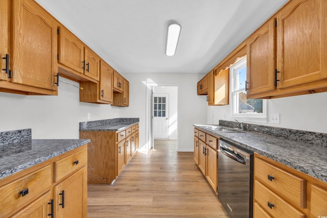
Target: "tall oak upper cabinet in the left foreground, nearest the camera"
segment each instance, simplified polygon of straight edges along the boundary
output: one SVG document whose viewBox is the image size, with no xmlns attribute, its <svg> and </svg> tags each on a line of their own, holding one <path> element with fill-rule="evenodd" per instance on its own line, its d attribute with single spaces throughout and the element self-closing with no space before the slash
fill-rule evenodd
<svg viewBox="0 0 327 218">
<path fill-rule="evenodd" d="M 5 0 L 0 10 L 0 30 L 4 34 L 0 49 L 2 57 L 7 58 L 2 59 L 1 66 L 8 69 L 1 71 L 0 89 L 56 95 L 56 20 L 32 0 Z"/>
</svg>

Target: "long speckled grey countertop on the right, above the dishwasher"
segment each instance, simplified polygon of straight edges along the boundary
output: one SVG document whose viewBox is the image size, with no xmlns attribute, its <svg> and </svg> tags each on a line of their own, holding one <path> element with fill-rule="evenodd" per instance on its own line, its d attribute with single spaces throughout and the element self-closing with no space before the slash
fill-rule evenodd
<svg viewBox="0 0 327 218">
<path fill-rule="evenodd" d="M 308 143 L 300 140 L 300 138 L 290 140 L 285 137 L 253 131 L 219 132 L 209 128 L 208 125 L 195 124 L 194 126 L 203 132 L 231 141 L 250 151 L 327 182 L 327 156 L 325 155 L 327 154 L 327 147 L 324 144 L 327 134 L 318 133 L 318 138 L 314 138 L 312 143 Z M 260 129 L 260 127 L 258 128 Z M 285 129 L 285 131 L 289 132 L 289 129 Z M 279 133 L 281 134 L 281 132 Z"/>
</svg>

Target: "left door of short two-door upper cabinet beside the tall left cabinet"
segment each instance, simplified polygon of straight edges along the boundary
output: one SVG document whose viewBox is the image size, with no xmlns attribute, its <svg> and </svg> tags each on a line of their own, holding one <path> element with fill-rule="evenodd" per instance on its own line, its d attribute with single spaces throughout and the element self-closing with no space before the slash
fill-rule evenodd
<svg viewBox="0 0 327 218">
<path fill-rule="evenodd" d="M 63 27 L 59 27 L 59 63 L 83 74 L 84 44 Z"/>
</svg>

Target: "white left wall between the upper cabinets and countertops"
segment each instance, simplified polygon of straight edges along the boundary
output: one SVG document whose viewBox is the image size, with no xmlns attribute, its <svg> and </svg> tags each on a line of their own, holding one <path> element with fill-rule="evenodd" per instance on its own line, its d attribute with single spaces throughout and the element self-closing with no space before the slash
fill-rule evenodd
<svg viewBox="0 0 327 218">
<path fill-rule="evenodd" d="M 79 123 L 120 117 L 110 105 L 79 102 L 79 83 L 60 77 L 58 96 L 0 92 L 0 132 L 32 128 L 33 139 L 79 138 Z"/>
</svg>

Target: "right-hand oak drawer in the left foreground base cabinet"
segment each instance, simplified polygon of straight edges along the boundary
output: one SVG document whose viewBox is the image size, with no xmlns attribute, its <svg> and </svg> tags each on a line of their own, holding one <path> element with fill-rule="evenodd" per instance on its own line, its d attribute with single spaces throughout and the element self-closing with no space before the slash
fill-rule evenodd
<svg viewBox="0 0 327 218">
<path fill-rule="evenodd" d="M 87 163 L 87 149 L 83 149 L 77 153 L 55 162 L 55 182 L 61 180 L 68 174 L 73 173 L 81 166 Z"/>
</svg>

